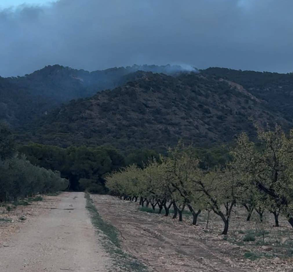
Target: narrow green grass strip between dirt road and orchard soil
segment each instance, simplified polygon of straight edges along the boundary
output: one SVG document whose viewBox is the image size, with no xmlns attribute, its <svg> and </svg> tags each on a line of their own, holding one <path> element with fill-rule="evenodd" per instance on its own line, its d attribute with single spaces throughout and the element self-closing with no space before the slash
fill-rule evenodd
<svg viewBox="0 0 293 272">
<path fill-rule="evenodd" d="M 102 244 L 114 260 L 114 265 L 123 269 L 123 271 L 137 271 L 146 272 L 147 267 L 139 262 L 135 257 L 123 252 L 120 241 L 118 230 L 111 224 L 105 222 L 98 213 L 98 210 L 93 203 L 93 199 L 89 193 L 85 193 L 86 198 L 86 209 L 88 209 L 91 221 L 96 231 L 103 233 Z"/>
</svg>

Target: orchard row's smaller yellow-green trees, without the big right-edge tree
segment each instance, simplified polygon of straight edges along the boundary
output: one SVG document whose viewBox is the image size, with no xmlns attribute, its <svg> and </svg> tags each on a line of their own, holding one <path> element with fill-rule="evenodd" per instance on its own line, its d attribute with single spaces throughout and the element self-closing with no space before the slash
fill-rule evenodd
<svg viewBox="0 0 293 272">
<path fill-rule="evenodd" d="M 187 206 L 193 220 L 201 209 L 213 210 L 224 221 L 223 234 L 227 234 L 229 217 L 240 195 L 239 185 L 239 174 L 233 168 L 203 170 L 194 149 L 182 142 L 169 149 L 167 157 L 161 156 L 160 163 L 153 159 L 144 169 L 131 165 L 106 176 L 110 193 L 147 199 L 153 208 L 154 204 L 162 209 L 167 203 L 176 203 L 182 214 Z"/>
</svg>

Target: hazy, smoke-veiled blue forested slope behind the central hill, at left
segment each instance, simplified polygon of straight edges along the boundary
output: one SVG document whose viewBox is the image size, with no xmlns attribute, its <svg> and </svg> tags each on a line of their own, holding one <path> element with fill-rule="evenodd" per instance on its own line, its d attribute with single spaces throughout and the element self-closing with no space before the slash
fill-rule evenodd
<svg viewBox="0 0 293 272">
<path fill-rule="evenodd" d="M 71 99 L 89 97 L 124 84 L 128 81 L 127 75 L 138 70 L 174 74 L 183 68 L 134 65 L 88 72 L 53 65 L 23 77 L 0 76 L 0 120 L 22 127 Z"/>
</svg>

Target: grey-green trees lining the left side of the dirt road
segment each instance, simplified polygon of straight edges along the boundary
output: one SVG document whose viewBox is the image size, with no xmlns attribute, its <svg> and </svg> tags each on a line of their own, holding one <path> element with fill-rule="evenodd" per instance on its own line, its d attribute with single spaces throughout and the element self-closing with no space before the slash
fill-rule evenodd
<svg viewBox="0 0 293 272">
<path fill-rule="evenodd" d="M 15 152 L 11 130 L 0 124 L 0 202 L 57 192 L 67 186 L 68 180 L 59 172 L 35 166 Z"/>
</svg>

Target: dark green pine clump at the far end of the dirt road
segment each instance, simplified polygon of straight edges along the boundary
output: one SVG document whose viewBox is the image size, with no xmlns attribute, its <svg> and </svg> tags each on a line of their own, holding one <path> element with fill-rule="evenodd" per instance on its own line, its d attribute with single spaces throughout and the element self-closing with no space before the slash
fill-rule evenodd
<svg viewBox="0 0 293 272">
<path fill-rule="evenodd" d="M 125 165 L 124 156 L 109 147 L 68 147 L 28 144 L 18 148 L 31 163 L 61 172 L 70 190 L 105 193 L 104 175 Z"/>
</svg>

